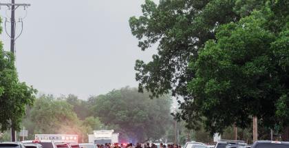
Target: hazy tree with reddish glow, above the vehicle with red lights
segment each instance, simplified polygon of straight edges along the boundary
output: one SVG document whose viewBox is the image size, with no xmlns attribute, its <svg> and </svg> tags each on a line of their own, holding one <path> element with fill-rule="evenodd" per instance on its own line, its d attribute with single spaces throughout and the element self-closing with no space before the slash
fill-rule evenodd
<svg viewBox="0 0 289 148">
<path fill-rule="evenodd" d="M 73 106 L 53 96 L 37 98 L 30 111 L 34 133 L 38 134 L 79 134 L 81 123 L 73 112 Z"/>
</svg>

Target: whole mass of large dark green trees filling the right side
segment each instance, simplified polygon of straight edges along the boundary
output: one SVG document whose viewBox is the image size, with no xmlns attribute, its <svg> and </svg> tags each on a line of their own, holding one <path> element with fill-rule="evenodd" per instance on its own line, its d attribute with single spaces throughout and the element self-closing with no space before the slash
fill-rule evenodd
<svg viewBox="0 0 289 148">
<path fill-rule="evenodd" d="M 288 123 L 288 1 L 147 0 L 129 23 L 142 50 L 158 45 L 152 61 L 136 61 L 140 92 L 182 96 L 187 127 L 203 117 L 211 133 L 248 127 L 252 116 Z"/>
</svg>

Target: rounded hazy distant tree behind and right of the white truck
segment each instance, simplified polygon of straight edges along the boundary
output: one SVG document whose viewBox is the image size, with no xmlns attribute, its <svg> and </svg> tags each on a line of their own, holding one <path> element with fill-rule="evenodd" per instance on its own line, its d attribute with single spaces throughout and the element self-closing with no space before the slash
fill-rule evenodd
<svg viewBox="0 0 289 148">
<path fill-rule="evenodd" d="M 162 96 L 151 100 L 149 93 L 125 87 L 95 97 L 91 109 L 105 125 L 116 125 L 116 132 L 134 142 L 162 138 L 171 120 L 171 99 Z"/>
</svg>

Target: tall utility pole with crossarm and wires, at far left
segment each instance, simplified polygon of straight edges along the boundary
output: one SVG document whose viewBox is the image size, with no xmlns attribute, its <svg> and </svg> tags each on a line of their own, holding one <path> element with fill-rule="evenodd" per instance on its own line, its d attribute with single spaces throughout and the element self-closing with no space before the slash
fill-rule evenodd
<svg viewBox="0 0 289 148">
<path fill-rule="evenodd" d="M 30 6 L 30 4 L 28 4 L 28 3 L 15 3 L 15 0 L 11 0 L 11 3 L 0 3 L 0 7 L 1 6 L 7 6 L 9 8 L 9 10 L 11 10 L 11 18 L 10 18 L 11 32 L 10 32 L 10 35 L 7 32 L 6 33 L 8 34 L 8 36 L 10 36 L 10 42 L 11 42 L 10 43 L 10 52 L 14 55 L 14 53 L 15 53 L 15 47 L 14 47 L 14 45 L 15 45 L 15 27 L 16 27 L 15 10 L 17 10 L 17 8 L 19 8 L 20 6 L 23 6 L 24 10 L 25 10 L 25 8 Z M 19 34 L 19 36 L 20 36 L 20 34 Z M 17 38 L 19 36 L 17 36 Z M 16 141 L 16 131 L 13 127 L 12 121 L 11 121 L 11 141 L 12 142 Z"/>
</svg>

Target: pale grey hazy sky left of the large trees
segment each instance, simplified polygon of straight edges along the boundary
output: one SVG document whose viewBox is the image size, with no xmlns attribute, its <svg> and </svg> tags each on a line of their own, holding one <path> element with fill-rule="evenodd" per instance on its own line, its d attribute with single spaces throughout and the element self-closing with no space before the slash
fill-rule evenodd
<svg viewBox="0 0 289 148">
<path fill-rule="evenodd" d="M 148 61 L 156 52 L 140 51 L 129 28 L 129 17 L 141 14 L 144 0 L 16 2 L 32 5 L 16 42 L 17 71 L 21 81 L 41 93 L 76 94 L 86 99 L 126 85 L 136 87 L 136 59 Z M 1 17 L 6 17 L 6 10 L 1 7 Z M 23 16 L 25 11 L 19 8 L 17 18 Z M 0 39 L 5 50 L 10 50 L 4 30 Z"/>
</svg>

